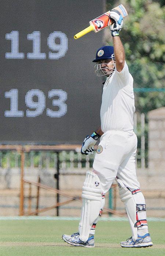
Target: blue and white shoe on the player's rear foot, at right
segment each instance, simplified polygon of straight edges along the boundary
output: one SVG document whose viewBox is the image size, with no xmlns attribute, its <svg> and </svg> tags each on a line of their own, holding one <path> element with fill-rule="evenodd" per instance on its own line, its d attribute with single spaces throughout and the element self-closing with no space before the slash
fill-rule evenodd
<svg viewBox="0 0 165 256">
<path fill-rule="evenodd" d="M 132 237 L 128 238 L 125 242 L 121 242 L 121 247 L 149 247 L 153 246 L 150 234 L 143 236 L 138 235 L 137 240 L 133 241 Z"/>
</svg>

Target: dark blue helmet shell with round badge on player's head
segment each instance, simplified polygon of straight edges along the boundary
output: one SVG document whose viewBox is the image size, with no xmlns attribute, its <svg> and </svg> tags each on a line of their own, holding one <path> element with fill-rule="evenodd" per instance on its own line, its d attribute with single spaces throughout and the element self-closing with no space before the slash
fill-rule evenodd
<svg viewBox="0 0 165 256">
<path fill-rule="evenodd" d="M 112 54 L 114 54 L 113 46 L 106 45 L 100 47 L 96 52 L 96 58 L 93 60 L 93 62 L 98 62 L 101 59 L 112 59 Z"/>
</svg>

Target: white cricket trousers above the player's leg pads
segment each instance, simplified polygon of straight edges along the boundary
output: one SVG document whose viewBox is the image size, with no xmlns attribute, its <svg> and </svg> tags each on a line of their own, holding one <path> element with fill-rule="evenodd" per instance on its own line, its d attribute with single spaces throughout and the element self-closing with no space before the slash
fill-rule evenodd
<svg viewBox="0 0 165 256">
<path fill-rule="evenodd" d="M 106 193 L 116 176 L 129 189 L 139 189 L 135 155 L 137 136 L 133 131 L 106 131 L 100 138 L 93 168 Z"/>
</svg>

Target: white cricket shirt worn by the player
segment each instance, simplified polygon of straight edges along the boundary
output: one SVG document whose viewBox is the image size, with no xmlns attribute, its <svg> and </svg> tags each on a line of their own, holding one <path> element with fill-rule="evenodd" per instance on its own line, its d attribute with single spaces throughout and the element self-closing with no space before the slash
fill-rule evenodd
<svg viewBox="0 0 165 256">
<path fill-rule="evenodd" d="M 100 109 L 102 131 L 132 131 L 134 112 L 133 77 L 125 62 L 122 71 L 115 69 L 104 84 Z"/>
</svg>

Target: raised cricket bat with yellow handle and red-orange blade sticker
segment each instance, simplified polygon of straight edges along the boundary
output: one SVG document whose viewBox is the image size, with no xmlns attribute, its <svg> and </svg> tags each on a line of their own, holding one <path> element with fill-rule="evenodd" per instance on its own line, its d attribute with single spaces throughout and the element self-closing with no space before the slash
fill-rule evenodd
<svg viewBox="0 0 165 256">
<path fill-rule="evenodd" d="M 120 4 L 119 6 L 113 8 L 115 10 L 118 10 L 122 17 L 126 17 L 128 15 L 125 7 Z M 100 30 L 106 28 L 107 26 L 111 25 L 113 21 L 109 18 L 110 17 L 110 11 L 107 11 L 106 13 L 100 15 L 99 17 L 92 19 L 92 21 L 89 21 L 90 26 L 79 33 L 77 33 L 74 36 L 74 39 L 78 39 L 81 36 L 84 36 L 85 34 L 91 32 L 92 30 L 94 32 L 99 32 Z"/>
</svg>

